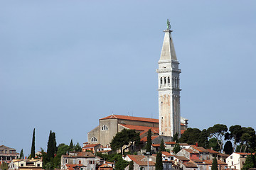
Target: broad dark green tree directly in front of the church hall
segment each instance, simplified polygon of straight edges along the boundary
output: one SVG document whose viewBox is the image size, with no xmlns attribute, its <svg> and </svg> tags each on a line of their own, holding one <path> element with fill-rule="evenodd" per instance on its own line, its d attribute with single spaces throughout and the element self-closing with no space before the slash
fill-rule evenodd
<svg viewBox="0 0 256 170">
<path fill-rule="evenodd" d="M 112 150 L 121 149 L 121 153 L 123 153 L 122 147 L 124 147 L 124 145 L 127 146 L 124 149 L 127 149 L 132 145 L 138 145 L 139 140 L 140 138 L 138 132 L 135 132 L 135 130 L 123 129 L 121 132 L 117 132 L 117 134 L 110 142 L 110 145 L 112 147 Z"/>
</svg>

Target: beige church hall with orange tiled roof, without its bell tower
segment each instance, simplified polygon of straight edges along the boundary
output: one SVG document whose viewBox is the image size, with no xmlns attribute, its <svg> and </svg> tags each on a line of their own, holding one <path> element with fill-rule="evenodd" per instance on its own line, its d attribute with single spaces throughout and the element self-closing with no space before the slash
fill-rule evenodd
<svg viewBox="0 0 256 170">
<path fill-rule="evenodd" d="M 181 129 L 186 130 L 188 120 L 184 118 L 181 118 L 181 120 Z M 159 120 L 128 115 L 109 115 L 105 118 L 101 118 L 99 120 L 99 125 L 87 133 L 87 142 L 110 146 L 110 142 L 114 135 L 116 135 L 117 132 L 121 132 L 123 129 L 132 129 L 141 133 L 151 129 L 155 135 L 159 135 Z"/>
</svg>

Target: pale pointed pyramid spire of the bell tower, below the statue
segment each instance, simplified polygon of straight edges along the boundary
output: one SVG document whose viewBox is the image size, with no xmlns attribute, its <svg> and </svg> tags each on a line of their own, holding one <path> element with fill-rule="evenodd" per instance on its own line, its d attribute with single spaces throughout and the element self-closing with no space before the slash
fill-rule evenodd
<svg viewBox="0 0 256 170">
<path fill-rule="evenodd" d="M 161 50 L 160 60 L 177 60 L 176 52 L 174 50 L 174 42 L 171 38 L 171 30 L 164 30 L 164 43 Z"/>
</svg>

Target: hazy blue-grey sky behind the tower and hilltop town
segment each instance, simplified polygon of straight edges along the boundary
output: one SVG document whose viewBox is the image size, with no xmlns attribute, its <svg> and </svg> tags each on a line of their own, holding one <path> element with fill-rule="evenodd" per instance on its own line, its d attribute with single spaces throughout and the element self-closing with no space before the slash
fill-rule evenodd
<svg viewBox="0 0 256 170">
<path fill-rule="evenodd" d="M 107 115 L 158 118 L 171 22 L 188 127 L 256 129 L 256 1 L 0 1 L 0 145 L 87 142 Z"/>
</svg>

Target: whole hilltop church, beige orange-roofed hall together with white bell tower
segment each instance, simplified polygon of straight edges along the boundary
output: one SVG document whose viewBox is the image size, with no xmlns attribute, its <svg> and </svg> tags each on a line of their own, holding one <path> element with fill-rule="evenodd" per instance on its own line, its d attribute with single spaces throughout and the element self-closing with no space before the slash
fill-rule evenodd
<svg viewBox="0 0 256 170">
<path fill-rule="evenodd" d="M 151 129 L 153 135 L 169 137 L 175 134 L 178 137 L 188 128 L 188 120 L 181 117 L 180 84 L 178 60 L 174 50 L 174 42 L 171 38 L 171 26 L 167 21 L 167 29 L 164 30 L 164 43 L 161 57 L 158 62 L 158 91 L 159 91 L 159 119 L 139 118 L 128 115 L 109 115 L 99 120 L 99 125 L 87 133 L 87 142 L 100 143 L 102 146 L 110 146 L 110 142 L 117 132 L 123 129 L 132 129 L 143 134 Z"/>
</svg>

